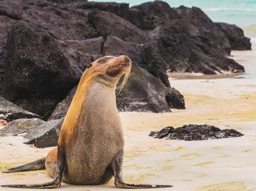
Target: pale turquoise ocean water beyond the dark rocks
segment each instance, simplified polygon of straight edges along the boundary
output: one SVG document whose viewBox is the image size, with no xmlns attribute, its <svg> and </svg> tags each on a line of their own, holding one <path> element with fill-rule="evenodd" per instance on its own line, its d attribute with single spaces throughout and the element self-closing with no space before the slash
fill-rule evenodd
<svg viewBox="0 0 256 191">
<path fill-rule="evenodd" d="M 147 0 L 100 0 L 139 5 Z M 256 0 L 167 0 L 171 7 L 200 7 L 214 22 L 228 22 L 246 27 L 256 24 Z"/>
</svg>

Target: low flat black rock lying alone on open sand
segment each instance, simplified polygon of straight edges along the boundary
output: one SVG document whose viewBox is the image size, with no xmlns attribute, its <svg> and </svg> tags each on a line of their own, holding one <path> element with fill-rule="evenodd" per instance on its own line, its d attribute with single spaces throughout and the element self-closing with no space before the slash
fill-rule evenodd
<svg viewBox="0 0 256 191">
<path fill-rule="evenodd" d="M 210 126 L 207 124 L 188 124 L 178 128 L 167 126 L 162 128 L 160 131 L 152 131 L 150 136 L 158 139 L 202 141 L 208 139 L 241 137 L 243 134 L 234 129 L 221 130 L 216 126 Z"/>
</svg>

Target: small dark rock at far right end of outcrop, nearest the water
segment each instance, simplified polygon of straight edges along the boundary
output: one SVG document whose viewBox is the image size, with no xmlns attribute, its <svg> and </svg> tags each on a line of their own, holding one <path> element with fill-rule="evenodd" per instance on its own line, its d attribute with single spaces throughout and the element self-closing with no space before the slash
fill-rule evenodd
<svg viewBox="0 0 256 191">
<path fill-rule="evenodd" d="M 227 39 L 232 50 L 251 50 L 250 39 L 244 37 L 244 31 L 237 27 L 235 24 L 227 24 L 223 22 L 216 22 L 220 27 Z"/>
</svg>

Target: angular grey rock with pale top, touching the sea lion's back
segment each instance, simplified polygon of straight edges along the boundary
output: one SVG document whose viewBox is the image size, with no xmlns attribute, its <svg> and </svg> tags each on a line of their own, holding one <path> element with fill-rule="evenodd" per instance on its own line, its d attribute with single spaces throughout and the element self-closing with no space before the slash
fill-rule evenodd
<svg viewBox="0 0 256 191">
<path fill-rule="evenodd" d="M 40 126 L 34 126 L 23 136 L 29 141 L 27 144 L 33 144 L 35 147 L 53 147 L 57 145 L 59 131 L 63 123 L 64 118 L 59 120 L 49 120 L 44 122 Z"/>
</svg>

